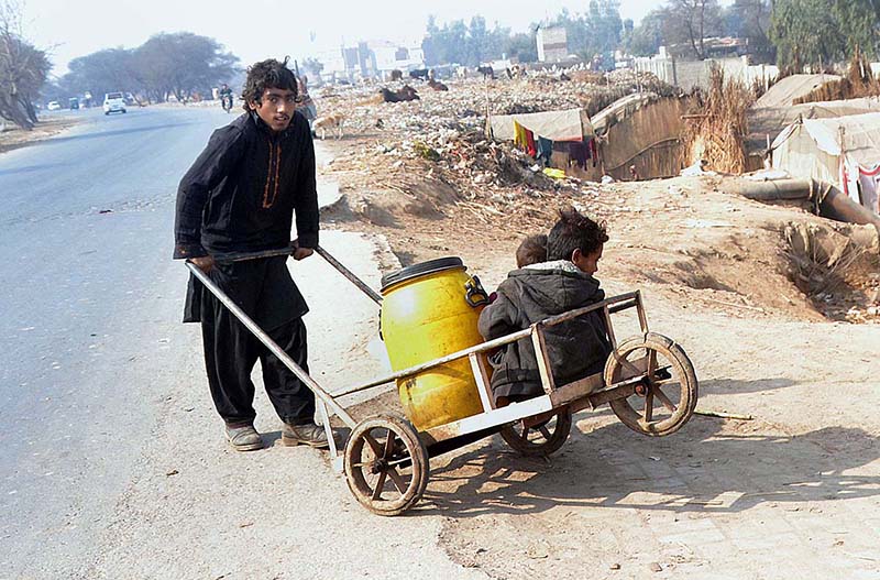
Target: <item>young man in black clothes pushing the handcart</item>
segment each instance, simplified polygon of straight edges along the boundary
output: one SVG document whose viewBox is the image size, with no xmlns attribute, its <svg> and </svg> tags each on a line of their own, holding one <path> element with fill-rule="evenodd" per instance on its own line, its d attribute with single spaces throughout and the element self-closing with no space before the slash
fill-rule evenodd
<svg viewBox="0 0 880 580">
<path fill-rule="evenodd" d="M 177 191 L 175 259 L 210 278 L 308 372 L 308 311 L 286 256 L 220 263 L 215 255 L 286 248 L 296 218 L 304 260 L 318 245 L 315 145 L 306 119 L 294 114 L 297 81 L 287 59 L 248 69 L 244 113 L 213 132 Z M 251 371 L 260 360 L 266 393 L 283 422 L 282 441 L 327 447 L 315 424 L 315 395 L 195 276 L 187 288 L 185 322 L 201 322 L 208 385 L 229 445 L 261 449 L 254 429 Z"/>
</svg>

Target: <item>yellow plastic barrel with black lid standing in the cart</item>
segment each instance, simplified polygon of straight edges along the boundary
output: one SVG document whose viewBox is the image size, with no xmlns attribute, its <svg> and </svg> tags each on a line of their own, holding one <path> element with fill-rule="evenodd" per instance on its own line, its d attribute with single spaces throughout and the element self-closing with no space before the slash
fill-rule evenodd
<svg viewBox="0 0 880 580">
<path fill-rule="evenodd" d="M 483 337 L 476 321 L 488 298 L 459 258 L 415 264 L 382 277 L 382 336 L 399 371 L 468 347 Z M 397 381 L 404 411 L 419 430 L 483 411 L 468 358 Z"/>
</svg>

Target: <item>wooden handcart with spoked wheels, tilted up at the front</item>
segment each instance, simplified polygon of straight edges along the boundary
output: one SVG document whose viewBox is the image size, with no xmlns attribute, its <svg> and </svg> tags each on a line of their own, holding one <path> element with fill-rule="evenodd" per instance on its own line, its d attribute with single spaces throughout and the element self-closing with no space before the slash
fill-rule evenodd
<svg viewBox="0 0 880 580">
<path fill-rule="evenodd" d="M 220 263 L 290 255 L 289 248 L 255 253 L 216 256 Z M 318 248 L 324 258 L 376 304 L 383 298 L 344 265 Z M 211 278 L 195 264 L 187 262 L 190 272 L 227 308 L 265 344 L 316 395 L 319 417 L 327 430 L 333 468 L 343 471 L 349 489 L 359 503 L 380 515 L 398 515 L 421 499 L 428 484 L 429 462 L 447 451 L 461 448 L 481 438 L 501 434 L 516 451 L 527 456 L 548 456 L 557 451 L 571 431 L 572 414 L 595 409 L 607 403 L 614 414 L 630 429 L 661 437 L 679 430 L 693 415 L 697 400 L 697 380 L 684 350 L 669 338 L 650 332 L 639 291 L 620 294 L 585 308 L 570 310 L 541 320 L 531 327 L 495 340 L 457 350 L 432 360 L 414 364 L 366 384 L 330 394 L 298 366 Z M 462 269 L 463 270 L 463 269 Z M 468 284 L 468 300 L 475 286 L 474 276 Z M 482 287 L 480 287 L 482 292 Z M 635 308 L 640 332 L 619 341 L 612 318 Z M 603 317 L 613 351 L 604 372 L 568 384 L 556 384 L 548 358 L 544 336 L 548 328 L 580 316 L 598 311 Z M 386 337 L 387 338 L 387 337 Z M 514 341 L 527 339 L 534 344 L 543 394 L 527 401 L 496 407 L 490 389 L 486 354 Z M 479 409 L 470 416 L 438 425 L 417 428 L 408 416 L 380 413 L 355 419 L 339 403 L 342 397 L 363 393 L 389 383 L 413 381 L 420 373 L 444 369 L 444 365 L 466 361 L 473 373 L 479 395 Z M 475 396 L 476 396 L 475 395 Z M 351 434 L 342 449 L 337 447 L 330 426 L 329 411 L 334 413 Z M 410 414 L 411 415 L 411 414 Z"/>
</svg>

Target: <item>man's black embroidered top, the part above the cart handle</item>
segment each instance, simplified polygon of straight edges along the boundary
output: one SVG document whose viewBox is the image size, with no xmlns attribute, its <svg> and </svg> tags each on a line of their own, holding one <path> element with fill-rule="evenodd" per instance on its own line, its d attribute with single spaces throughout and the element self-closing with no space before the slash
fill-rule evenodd
<svg viewBox="0 0 880 580">
<path fill-rule="evenodd" d="M 315 145 L 294 114 L 273 134 L 254 113 L 218 129 L 180 180 L 174 258 L 283 248 L 293 216 L 299 245 L 318 245 Z"/>
</svg>

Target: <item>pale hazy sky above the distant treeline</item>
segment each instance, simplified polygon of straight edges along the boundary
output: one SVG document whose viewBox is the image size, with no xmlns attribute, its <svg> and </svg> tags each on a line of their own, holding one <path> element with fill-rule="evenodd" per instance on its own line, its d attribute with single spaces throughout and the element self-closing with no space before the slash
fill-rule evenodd
<svg viewBox="0 0 880 580">
<path fill-rule="evenodd" d="M 587 0 L 24 0 L 24 35 L 48 50 L 53 73 L 101 48 L 133 48 L 158 32 L 194 32 L 219 41 L 242 65 L 267 57 L 333 51 L 344 41 L 419 43 L 429 14 L 440 23 L 481 14 L 515 32 L 562 8 L 583 12 Z M 622 18 L 639 22 L 661 2 L 620 0 Z"/>
</svg>

